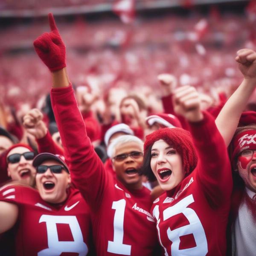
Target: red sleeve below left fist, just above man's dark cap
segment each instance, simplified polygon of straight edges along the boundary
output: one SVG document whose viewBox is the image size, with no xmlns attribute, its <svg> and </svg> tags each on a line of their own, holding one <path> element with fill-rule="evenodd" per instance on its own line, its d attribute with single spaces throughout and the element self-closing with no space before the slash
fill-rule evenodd
<svg viewBox="0 0 256 256">
<path fill-rule="evenodd" d="M 36 142 L 38 144 L 39 153 L 48 152 L 59 155 L 64 154 L 63 150 L 52 140 L 52 136 L 49 131 L 47 131 L 47 134 L 43 138 L 37 139 Z"/>
</svg>

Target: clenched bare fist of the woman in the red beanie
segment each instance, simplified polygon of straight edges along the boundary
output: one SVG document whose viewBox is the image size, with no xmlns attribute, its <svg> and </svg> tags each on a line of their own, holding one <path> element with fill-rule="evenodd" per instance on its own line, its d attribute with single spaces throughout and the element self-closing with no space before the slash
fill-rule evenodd
<svg viewBox="0 0 256 256">
<path fill-rule="evenodd" d="M 200 98 L 195 87 L 186 85 L 173 92 L 173 106 L 176 114 L 183 116 L 189 122 L 198 122 L 203 119 L 200 108 Z"/>
</svg>

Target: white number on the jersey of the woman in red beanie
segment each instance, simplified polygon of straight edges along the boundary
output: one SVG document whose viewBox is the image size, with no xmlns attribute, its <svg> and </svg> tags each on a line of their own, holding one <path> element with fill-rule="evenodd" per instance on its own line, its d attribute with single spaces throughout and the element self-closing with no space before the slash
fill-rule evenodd
<svg viewBox="0 0 256 256">
<path fill-rule="evenodd" d="M 166 221 L 168 218 L 175 216 L 179 213 L 182 213 L 189 221 L 189 224 L 183 227 L 179 227 L 175 230 L 171 230 L 170 227 L 167 230 L 167 236 L 170 241 L 172 241 L 171 253 L 170 255 L 188 255 L 188 256 L 198 256 L 206 255 L 208 252 L 207 239 L 204 232 L 204 227 L 201 224 L 200 219 L 196 212 L 188 208 L 189 204 L 194 202 L 193 195 L 189 195 L 186 198 L 180 200 L 177 204 L 172 207 L 168 207 L 163 211 L 163 221 Z M 157 219 L 157 225 L 160 222 L 159 219 L 159 207 L 158 205 L 154 207 L 154 217 Z M 159 230 L 158 230 L 159 231 Z M 185 236 L 193 234 L 196 246 L 188 249 L 179 250 L 180 246 L 180 236 Z M 160 239 L 160 232 L 158 232 Z M 161 239 L 160 239 L 161 241 Z M 162 245 L 163 246 L 163 245 Z M 166 248 L 166 255 L 168 255 Z"/>
</svg>

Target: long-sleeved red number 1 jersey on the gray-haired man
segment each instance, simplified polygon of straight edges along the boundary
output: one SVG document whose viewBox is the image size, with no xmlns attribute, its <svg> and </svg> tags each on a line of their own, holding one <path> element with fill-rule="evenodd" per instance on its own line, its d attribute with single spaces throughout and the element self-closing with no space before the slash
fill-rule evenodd
<svg viewBox="0 0 256 256">
<path fill-rule="evenodd" d="M 52 89 L 51 99 L 72 181 L 92 210 L 97 255 L 153 255 L 157 233 L 149 213 L 150 191 L 128 190 L 104 169 L 71 86 Z"/>
</svg>

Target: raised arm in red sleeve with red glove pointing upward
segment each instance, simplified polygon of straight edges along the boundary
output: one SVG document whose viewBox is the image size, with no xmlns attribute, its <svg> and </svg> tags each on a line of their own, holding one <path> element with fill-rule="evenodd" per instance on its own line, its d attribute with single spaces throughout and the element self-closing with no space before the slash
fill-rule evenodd
<svg viewBox="0 0 256 256">
<path fill-rule="evenodd" d="M 65 69 L 65 46 L 52 14 L 49 14 L 49 23 L 52 31 L 39 37 L 34 46 L 39 57 L 52 71 L 52 109 L 72 182 L 92 209 L 96 209 L 100 206 L 103 196 L 107 195 L 105 188 L 110 184 L 110 175 L 105 172 L 103 163 L 87 136 L 84 120 Z"/>
</svg>

